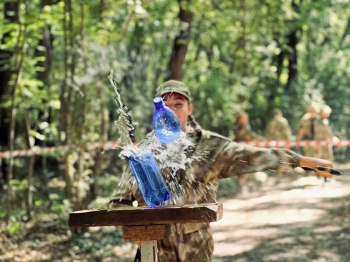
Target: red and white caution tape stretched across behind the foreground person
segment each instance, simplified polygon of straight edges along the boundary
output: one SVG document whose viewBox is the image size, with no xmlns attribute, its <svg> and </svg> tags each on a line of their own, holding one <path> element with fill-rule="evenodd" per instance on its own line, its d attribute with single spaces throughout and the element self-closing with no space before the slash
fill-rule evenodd
<svg viewBox="0 0 350 262">
<path fill-rule="evenodd" d="M 256 146 L 256 147 L 304 147 L 304 146 L 323 146 L 328 145 L 326 141 L 246 141 L 240 142 L 240 144 Z M 85 146 L 57 146 L 57 147 L 35 147 L 32 149 L 25 150 L 14 150 L 14 151 L 4 151 L 0 152 L 0 158 L 11 158 L 20 156 L 33 156 L 33 155 L 50 155 L 50 154 L 62 154 L 69 150 L 77 150 L 78 148 L 86 150 L 94 150 L 100 148 L 101 150 L 112 150 L 116 148 L 116 142 L 102 143 L 89 143 Z M 338 142 L 333 142 L 332 146 L 336 147 L 349 147 L 350 140 L 343 140 Z"/>
</svg>

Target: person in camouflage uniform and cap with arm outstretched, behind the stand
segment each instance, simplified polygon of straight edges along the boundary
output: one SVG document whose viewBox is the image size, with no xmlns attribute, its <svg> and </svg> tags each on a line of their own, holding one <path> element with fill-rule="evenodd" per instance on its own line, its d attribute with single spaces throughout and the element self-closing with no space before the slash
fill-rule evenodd
<svg viewBox="0 0 350 262">
<path fill-rule="evenodd" d="M 190 92 L 182 82 L 170 80 L 163 83 L 157 89 L 157 96 L 162 96 L 165 104 L 176 113 L 182 130 L 192 142 L 185 149 L 185 154 L 190 159 L 186 168 L 172 174 L 172 168 L 161 167 L 167 183 L 178 185 L 177 189 L 169 186 L 171 194 L 176 196 L 177 205 L 215 203 L 218 179 L 260 170 L 276 170 L 281 166 L 287 169 L 306 166 L 315 170 L 318 165 L 325 166 L 325 170 L 316 172 L 332 177 L 329 172 L 332 167 L 330 161 L 303 157 L 290 150 L 241 145 L 202 129 L 191 117 Z M 149 134 L 141 143 L 151 143 L 151 136 L 153 134 Z M 162 154 L 159 150 L 153 153 Z M 140 205 L 145 205 L 135 179 L 127 169 L 122 175 L 120 187 L 110 200 L 110 207 L 131 204 L 135 200 Z M 158 241 L 158 248 L 159 261 L 162 262 L 212 261 L 214 241 L 209 223 L 172 225 L 170 236 Z"/>
</svg>

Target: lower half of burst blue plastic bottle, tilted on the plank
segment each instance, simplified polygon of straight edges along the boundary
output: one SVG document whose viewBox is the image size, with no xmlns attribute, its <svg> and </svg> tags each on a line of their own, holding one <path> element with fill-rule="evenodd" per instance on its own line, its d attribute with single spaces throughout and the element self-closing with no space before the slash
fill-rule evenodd
<svg viewBox="0 0 350 262">
<path fill-rule="evenodd" d="M 169 189 L 151 152 L 132 154 L 128 163 L 148 206 L 154 208 L 170 199 Z"/>
</svg>

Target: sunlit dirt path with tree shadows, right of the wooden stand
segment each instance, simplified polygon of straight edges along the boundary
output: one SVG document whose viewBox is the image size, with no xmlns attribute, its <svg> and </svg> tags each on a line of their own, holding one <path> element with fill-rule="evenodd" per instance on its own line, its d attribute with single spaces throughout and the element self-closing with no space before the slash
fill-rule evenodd
<svg viewBox="0 0 350 262">
<path fill-rule="evenodd" d="M 212 223 L 216 262 L 350 261 L 349 169 L 327 183 L 284 175 L 219 201 L 223 219 Z"/>
</svg>

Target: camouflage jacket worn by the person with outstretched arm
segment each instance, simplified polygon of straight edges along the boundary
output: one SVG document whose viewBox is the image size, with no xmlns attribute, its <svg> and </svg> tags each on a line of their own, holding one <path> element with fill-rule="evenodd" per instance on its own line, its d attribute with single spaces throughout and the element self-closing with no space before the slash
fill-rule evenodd
<svg viewBox="0 0 350 262">
<path fill-rule="evenodd" d="M 293 151 L 241 145 L 203 130 L 198 125 L 188 126 L 186 135 L 192 145 L 185 149 L 186 157 L 190 161 L 187 161 L 184 169 L 174 173 L 173 168 L 160 166 L 172 195 L 169 204 L 215 203 L 218 179 L 256 171 L 277 170 L 282 165 L 290 169 L 299 165 L 300 156 Z M 149 143 L 152 136 L 153 134 L 149 134 L 141 144 Z M 161 151 L 153 153 L 156 158 L 162 154 Z M 118 203 L 131 203 L 134 200 L 139 205 L 146 205 L 128 168 L 121 177 L 120 186 L 111 199 L 110 207 L 118 207 Z M 173 226 L 171 233 L 186 234 L 208 226 L 208 223 L 177 224 Z"/>
</svg>

